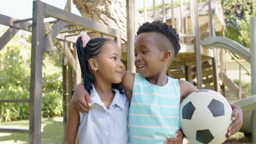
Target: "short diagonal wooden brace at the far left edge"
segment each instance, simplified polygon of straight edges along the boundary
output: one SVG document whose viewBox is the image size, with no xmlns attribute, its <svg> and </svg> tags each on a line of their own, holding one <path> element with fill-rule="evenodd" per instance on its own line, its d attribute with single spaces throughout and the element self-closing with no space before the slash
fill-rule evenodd
<svg viewBox="0 0 256 144">
<path fill-rule="evenodd" d="M 18 28 L 10 27 L 1 37 L 0 37 L 0 51 L 3 47 L 14 37 L 14 35 L 19 31 Z"/>
</svg>

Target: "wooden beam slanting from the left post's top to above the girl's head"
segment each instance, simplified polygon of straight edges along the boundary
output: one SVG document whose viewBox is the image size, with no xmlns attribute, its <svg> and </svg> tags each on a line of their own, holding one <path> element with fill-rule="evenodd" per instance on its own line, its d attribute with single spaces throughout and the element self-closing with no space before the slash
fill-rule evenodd
<svg viewBox="0 0 256 144">
<path fill-rule="evenodd" d="M 113 37 L 117 37 L 118 33 L 120 33 L 120 31 L 118 31 L 117 29 L 103 25 L 102 23 L 99 23 L 99 22 L 92 21 L 90 19 L 86 19 L 85 17 L 81 17 L 78 15 L 69 13 L 66 10 L 53 7 L 46 3 L 44 3 L 44 14 L 54 17 L 55 19 L 61 19 L 63 21 L 67 21 L 72 25 L 77 25 L 80 27 L 92 29 L 96 32 L 111 35 Z"/>
</svg>

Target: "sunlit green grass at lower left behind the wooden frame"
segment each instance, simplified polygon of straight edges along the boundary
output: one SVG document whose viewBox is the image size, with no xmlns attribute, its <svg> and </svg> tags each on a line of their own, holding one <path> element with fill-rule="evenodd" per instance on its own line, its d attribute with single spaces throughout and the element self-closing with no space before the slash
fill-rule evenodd
<svg viewBox="0 0 256 144">
<path fill-rule="evenodd" d="M 41 143 L 62 143 L 63 142 L 63 117 L 42 118 Z M 28 129 L 28 120 L 0 122 L 0 128 Z M 0 144 L 28 143 L 28 134 L 22 133 L 0 133 Z"/>
</svg>

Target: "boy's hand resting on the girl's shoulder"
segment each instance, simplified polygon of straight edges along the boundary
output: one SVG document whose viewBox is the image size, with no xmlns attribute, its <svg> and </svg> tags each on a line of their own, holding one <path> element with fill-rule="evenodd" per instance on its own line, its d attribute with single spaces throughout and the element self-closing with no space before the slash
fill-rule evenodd
<svg viewBox="0 0 256 144">
<path fill-rule="evenodd" d="M 72 103 L 75 109 L 80 112 L 88 113 L 91 110 L 91 98 L 83 83 L 79 83 L 74 87 Z"/>
</svg>

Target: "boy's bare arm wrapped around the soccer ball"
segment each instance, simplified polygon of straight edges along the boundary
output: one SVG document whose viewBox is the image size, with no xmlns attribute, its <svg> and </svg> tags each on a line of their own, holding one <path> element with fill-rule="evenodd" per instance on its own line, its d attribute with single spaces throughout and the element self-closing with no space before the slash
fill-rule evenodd
<svg viewBox="0 0 256 144">
<path fill-rule="evenodd" d="M 199 90 L 195 86 L 193 86 L 191 83 L 189 83 L 188 81 L 184 81 L 184 80 L 179 80 L 179 87 L 180 87 L 180 91 L 181 91 L 181 102 L 180 103 L 182 103 L 182 101 L 185 98 L 187 98 L 190 93 L 193 93 L 193 92 Z M 242 123 L 243 123 L 243 112 L 242 112 L 241 108 L 239 106 L 232 105 L 232 104 L 230 104 L 230 106 L 232 107 L 232 110 L 233 110 L 232 111 L 233 122 L 230 124 L 230 126 L 228 128 L 227 135 L 229 137 L 231 137 L 238 130 L 240 130 L 240 128 L 242 127 Z"/>
</svg>

